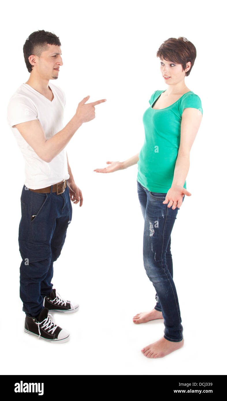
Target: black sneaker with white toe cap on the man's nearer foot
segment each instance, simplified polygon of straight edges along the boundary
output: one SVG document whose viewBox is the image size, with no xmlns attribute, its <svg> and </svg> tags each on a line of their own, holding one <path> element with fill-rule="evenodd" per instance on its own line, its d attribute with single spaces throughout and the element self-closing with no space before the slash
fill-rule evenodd
<svg viewBox="0 0 227 401">
<path fill-rule="evenodd" d="M 41 310 L 39 317 L 30 318 L 26 315 L 25 323 L 24 323 L 24 331 L 32 336 L 36 336 L 38 338 L 42 338 L 43 340 L 49 342 L 66 342 L 69 340 L 69 333 L 66 330 L 63 330 L 61 327 L 57 326 L 49 318 L 49 316 L 53 316 L 48 313 L 47 308 L 43 308 Z"/>
</svg>

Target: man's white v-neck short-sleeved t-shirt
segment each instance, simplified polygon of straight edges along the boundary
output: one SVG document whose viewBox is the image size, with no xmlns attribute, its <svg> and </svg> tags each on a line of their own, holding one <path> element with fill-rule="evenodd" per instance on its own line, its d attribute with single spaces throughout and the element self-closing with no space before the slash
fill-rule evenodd
<svg viewBox="0 0 227 401">
<path fill-rule="evenodd" d="M 22 83 L 9 100 L 7 121 L 16 138 L 25 160 L 25 186 L 31 189 L 46 188 L 69 179 L 66 149 L 51 162 L 42 160 L 24 140 L 15 124 L 39 120 L 46 139 L 63 129 L 65 93 L 59 86 L 49 83 L 54 98 L 52 101 L 41 95 L 27 83 Z"/>
</svg>

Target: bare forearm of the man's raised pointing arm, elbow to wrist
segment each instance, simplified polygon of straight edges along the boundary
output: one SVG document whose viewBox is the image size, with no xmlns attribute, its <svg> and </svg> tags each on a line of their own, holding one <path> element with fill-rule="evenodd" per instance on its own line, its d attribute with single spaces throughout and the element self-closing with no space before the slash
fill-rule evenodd
<svg viewBox="0 0 227 401">
<path fill-rule="evenodd" d="M 48 163 L 65 148 L 81 125 L 81 120 L 74 115 L 61 131 L 46 140 L 44 145 L 44 157 Z"/>
</svg>

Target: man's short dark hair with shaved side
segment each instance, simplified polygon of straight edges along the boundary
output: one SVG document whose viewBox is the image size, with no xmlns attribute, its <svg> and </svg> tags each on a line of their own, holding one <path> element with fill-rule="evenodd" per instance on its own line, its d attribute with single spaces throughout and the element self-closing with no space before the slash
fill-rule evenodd
<svg viewBox="0 0 227 401">
<path fill-rule="evenodd" d="M 47 32 L 45 30 L 36 30 L 32 32 L 26 39 L 23 47 L 24 61 L 28 72 L 32 72 L 32 67 L 29 63 L 28 57 L 30 55 L 41 56 L 41 53 L 48 49 L 47 45 L 61 46 L 59 37 L 52 32 Z"/>
</svg>

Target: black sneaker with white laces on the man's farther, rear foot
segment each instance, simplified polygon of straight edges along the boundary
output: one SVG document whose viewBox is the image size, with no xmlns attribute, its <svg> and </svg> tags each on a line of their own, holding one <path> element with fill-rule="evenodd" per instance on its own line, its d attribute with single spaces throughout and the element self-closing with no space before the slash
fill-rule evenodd
<svg viewBox="0 0 227 401">
<path fill-rule="evenodd" d="M 79 309 L 79 304 L 72 304 L 68 300 L 63 300 L 55 288 L 53 288 L 49 296 L 44 297 L 43 306 L 48 308 L 50 312 L 73 313 Z"/>
</svg>

